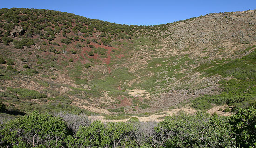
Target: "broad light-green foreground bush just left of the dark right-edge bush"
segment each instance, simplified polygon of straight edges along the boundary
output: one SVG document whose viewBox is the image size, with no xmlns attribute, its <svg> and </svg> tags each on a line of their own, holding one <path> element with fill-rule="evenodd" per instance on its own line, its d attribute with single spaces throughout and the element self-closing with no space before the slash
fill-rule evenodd
<svg viewBox="0 0 256 148">
<path fill-rule="evenodd" d="M 169 116 L 155 128 L 159 142 L 168 148 L 235 148 L 235 135 L 224 117 L 182 114 Z"/>
</svg>

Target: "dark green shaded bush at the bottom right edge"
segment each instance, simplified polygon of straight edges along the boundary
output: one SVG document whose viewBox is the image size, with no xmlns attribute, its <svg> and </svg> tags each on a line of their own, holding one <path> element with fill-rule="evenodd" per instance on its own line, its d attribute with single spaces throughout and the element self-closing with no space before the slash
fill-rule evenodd
<svg viewBox="0 0 256 148">
<path fill-rule="evenodd" d="M 237 148 L 256 147 L 256 109 L 237 109 L 237 113 L 231 116 L 230 123 L 236 132 Z"/>
</svg>

